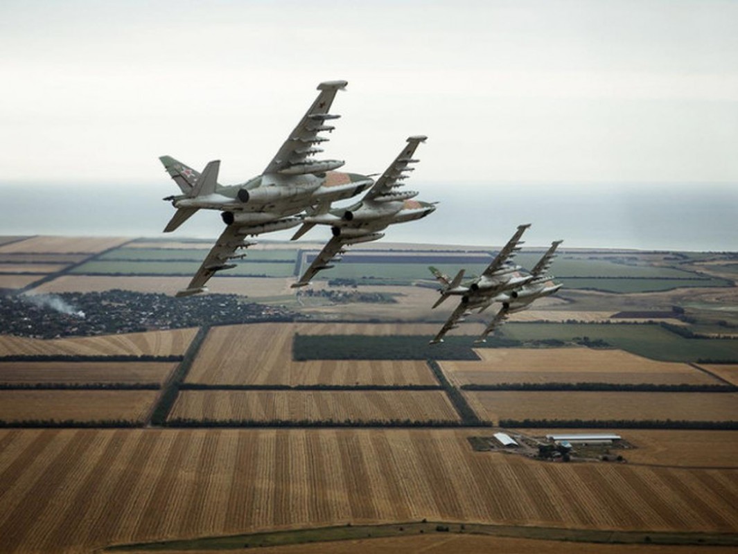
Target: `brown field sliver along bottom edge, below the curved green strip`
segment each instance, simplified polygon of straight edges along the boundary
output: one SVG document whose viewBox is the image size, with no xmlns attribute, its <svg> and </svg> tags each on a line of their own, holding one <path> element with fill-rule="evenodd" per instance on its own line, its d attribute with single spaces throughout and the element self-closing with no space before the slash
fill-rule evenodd
<svg viewBox="0 0 738 554">
<path fill-rule="evenodd" d="M 148 554 L 151 550 L 128 551 L 129 554 Z M 261 552 L 261 550 L 260 550 Z M 470 535 L 461 533 L 434 533 L 432 535 L 382 537 L 349 541 L 316 542 L 269 547 L 269 554 L 735 554 L 734 547 L 693 547 L 665 544 L 596 544 L 572 541 L 542 541 L 510 537 Z M 168 554 L 185 554 L 168 550 Z M 187 550 L 186 554 L 220 554 L 222 550 Z"/>
</svg>

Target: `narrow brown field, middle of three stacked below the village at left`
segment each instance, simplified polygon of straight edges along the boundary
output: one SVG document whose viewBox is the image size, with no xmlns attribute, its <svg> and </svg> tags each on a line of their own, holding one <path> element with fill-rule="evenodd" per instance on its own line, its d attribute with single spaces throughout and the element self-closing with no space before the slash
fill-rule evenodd
<svg viewBox="0 0 738 554">
<path fill-rule="evenodd" d="M 156 383 L 177 366 L 159 361 L 0 361 L 0 383 Z"/>
</svg>

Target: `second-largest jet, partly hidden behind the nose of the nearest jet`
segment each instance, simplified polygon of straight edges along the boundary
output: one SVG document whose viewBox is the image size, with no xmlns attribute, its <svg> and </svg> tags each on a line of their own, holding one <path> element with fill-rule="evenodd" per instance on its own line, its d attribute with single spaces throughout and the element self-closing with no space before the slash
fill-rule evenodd
<svg viewBox="0 0 738 554">
<path fill-rule="evenodd" d="M 413 167 L 409 167 L 418 162 L 417 159 L 413 159 L 413 154 L 418 145 L 426 139 L 426 136 L 410 136 L 407 139 L 408 144 L 361 201 L 350 207 L 323 210 L 305 218 L 305 223 L 292 240 L 300 238 L 317 224 L 330 225 L 333 238 L 325 244 L 297 283 L 292 285 L 293 288 L 307 285 L 319 271 L 333 267 L 328 265 L 328 262 L 343 254 L 347 246 L 379 240 L 384 237 L 381 231 L 387 226 L 424 218 L 435 211 L 435 205 L 430 202 L 411 200 L 418 195 L 417 192 L 395 190 L 404 184 L 403 179 L 407 179 L 406 173 L 414 170 Z"/>
</svg>

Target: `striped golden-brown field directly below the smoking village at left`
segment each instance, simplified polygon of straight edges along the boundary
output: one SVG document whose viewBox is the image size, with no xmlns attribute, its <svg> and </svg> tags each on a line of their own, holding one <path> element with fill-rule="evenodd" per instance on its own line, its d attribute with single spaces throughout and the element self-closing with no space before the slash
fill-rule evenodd
<svg viewBox="0 0 738 554">
<path fill-rule="evenodd" d="M 53 340 L 0 335 L 0 356 L 179 356 L 196 333 L 192 328 Z"/>
</svg>

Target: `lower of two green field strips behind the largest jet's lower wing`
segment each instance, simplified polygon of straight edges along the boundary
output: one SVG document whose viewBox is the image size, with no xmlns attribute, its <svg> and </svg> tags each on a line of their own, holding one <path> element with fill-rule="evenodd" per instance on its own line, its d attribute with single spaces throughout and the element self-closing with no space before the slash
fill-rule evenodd
<svg viewBox="0 0 738 554">
<path fill-rule="evenodd" d="M 204 259 L 204 253 L 201 260 Z M 201 260 L 191 262 L 142 262 L 142 261 L 114 261 L 93 260 L 77 266 L 71 272 L 74 274 L 105 274 L 105 275 L 192 275 L 200 267 Z M 294 274 L 294 263 L 255 262 L 241 260 L 235 268 L 222 272 L 220 275 L 235 275 L 239 277 L 291 277 Z"/>
</svg>

